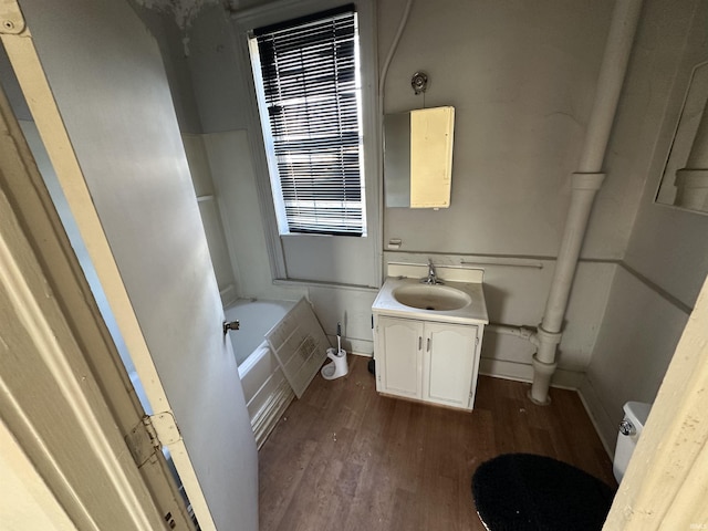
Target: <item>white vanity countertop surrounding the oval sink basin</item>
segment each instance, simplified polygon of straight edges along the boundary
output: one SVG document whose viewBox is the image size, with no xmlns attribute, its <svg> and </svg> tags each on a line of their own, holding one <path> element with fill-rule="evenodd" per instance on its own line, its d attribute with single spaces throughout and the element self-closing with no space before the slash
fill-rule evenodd
<svg viewBox="0 0 708 531">
<path fill-rule="evenodd" d="M 471 302 L 458 310 L 424 310 L 418 308 L 406 306 L 394 298 L 393 293 L 397 288 L 406 284 L 419 284 L 420 279 L 400 279 L 388 277 L 384 285 L 378 291 L 378 295 L 372 304 L 372 311 L 375 313 L 385 313 L 404 319 L 420 319 L 425 321 L 439 321 L 457 324 L 488 324 L 487 303 L 485 301 L 485 291 L 479 282 L 445 282 L 444 285 L 455 288 L 467 293 Z"/>
</svg>

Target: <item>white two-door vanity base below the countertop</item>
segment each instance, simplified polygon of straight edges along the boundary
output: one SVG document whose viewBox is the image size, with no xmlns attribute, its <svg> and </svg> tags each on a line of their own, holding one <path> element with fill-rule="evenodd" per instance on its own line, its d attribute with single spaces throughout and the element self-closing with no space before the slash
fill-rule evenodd
<svg viewBox="0 0 708 531">
<path fill-rule="evenodd" d="M 374 314 L 376 391 L 471 409 L 483 324 Z"/>
</svg>

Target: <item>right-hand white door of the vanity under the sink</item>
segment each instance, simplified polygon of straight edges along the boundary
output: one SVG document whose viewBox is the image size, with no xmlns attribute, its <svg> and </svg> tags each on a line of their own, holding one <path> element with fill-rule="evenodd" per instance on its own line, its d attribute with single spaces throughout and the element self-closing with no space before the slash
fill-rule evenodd
<svg viewBox="0 0 708 531">
<path fill-rule="evenodd" d="M 477 326 L 426 323 L 423 399 L 469 409 Z"/>
</svg>

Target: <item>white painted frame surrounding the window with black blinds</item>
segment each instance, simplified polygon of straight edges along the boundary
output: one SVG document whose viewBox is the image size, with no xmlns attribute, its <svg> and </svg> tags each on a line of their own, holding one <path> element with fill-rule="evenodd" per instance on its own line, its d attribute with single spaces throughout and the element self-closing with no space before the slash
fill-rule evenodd
<svg viewBox="0 0 708 531">
<path fill-rule="evenodd" d="M 273 204 L 273 190 L 270 180 L 268 158 L 266 156 L 266 145 L 261 128 L 257 91 L 252 75 L 251 61 L 249 54 L 248 34 L 256 28 L 270 25 L 287 20 L 317 13 L 339 6 L 354 3 L 358 18 L 358 40 L 361 58 L 361 80 L 362 80 L 362 123 L 364 135 L 364 183 L 365 190 L 366 233 L 358 238 L 351 236 L 329 236 L 329 235 L 305 235 L 305 233 L 282 233 L 278 226 L 275 207 Z M 361 256 L 362 249 L 366 254 L 367 266 L 364 268 L 365 274 L 354 280 L 340 278 L 323 278 L 322 282 L 327 284 L 350 284 L 369 288 L 381 287 L 382 268 L 382 214 L 381 214 L 381 121 L 378 119 L 377 101 L 377 48 L 376 48 L 376 24 L 375 4 L 372 0 L 355 1 L 332 1 L 332 0 L 282 0 L 266 6 L 259 6 L 246 10 L 240 10 L 232 15 L 235 24 L 235 35 L 238 49 L 239 73 L 250 101 L 243 102 L 249 127 L 249 137 L 253 155 L 253 165 L 257 173 L 257 184 L 259 200 L 262 212 L 263 226 L 267 232 L 267 248 L 270 258 L 271 273 L 275 282 L 298 282 L 304 281 L 308 284 L 317 284 L 319 281 L 301 278 L 289 271 L 293 260 L 287 257 L 289 250 L 294 247 L 322 248 L 332 246 L 337 253 L 347 256 Z M 343 240 L 357 241 L 356 248 L 352 243 Z M 325 243 L 323 243 L 325 241 Z M 347 250 L 352 249 L 352 250 Z M 316 254 L 316 252 L 315 252 Z M 314 257 L 313 257 L 314 260 Z M 287 266 L 288 263 L 288 266 Z M 302 270 L 302 268 L 300 268 Z"/>
</svg>

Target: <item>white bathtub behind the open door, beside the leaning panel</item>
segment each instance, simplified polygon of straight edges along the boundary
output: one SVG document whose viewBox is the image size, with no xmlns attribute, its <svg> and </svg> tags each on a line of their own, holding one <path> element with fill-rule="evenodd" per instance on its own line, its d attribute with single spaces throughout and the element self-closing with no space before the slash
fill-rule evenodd
<svg viewBox="0 0 708 531">
<path fill-rule="evenodd" d="M 241 323 L 229 337 L 259 448 L 295 396 L 266 342 L 266 334 L 294 305 L 289 301 L 243 299 L 225 311 L 227 321 Z"/>
</svg>

